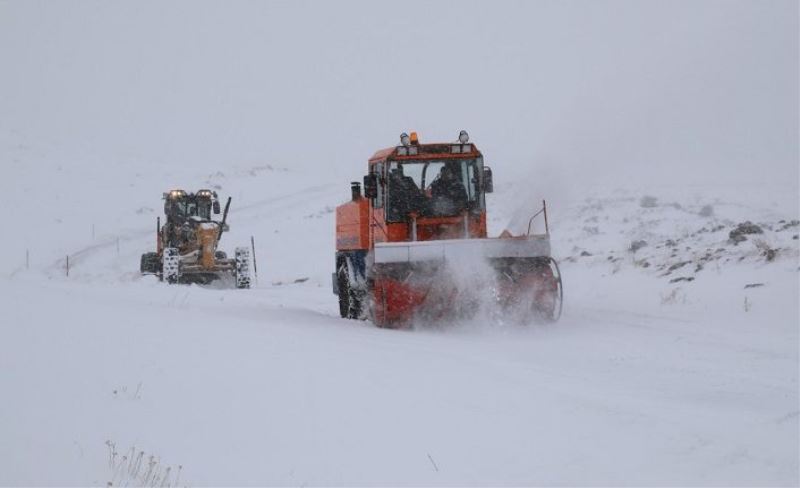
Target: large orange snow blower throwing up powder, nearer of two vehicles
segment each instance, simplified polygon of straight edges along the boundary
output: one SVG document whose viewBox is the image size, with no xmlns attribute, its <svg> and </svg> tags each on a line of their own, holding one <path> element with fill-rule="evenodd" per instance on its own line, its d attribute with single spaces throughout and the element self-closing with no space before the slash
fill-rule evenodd
<svg viewBox="0 0 800 488">
<path fill-rule="evenodd" d="M 529 222 L 527 235 L 487 237 L 492 170 L 466 131 L 436 144 L 402 134 L 369 159 L 363 183 L 363 196 L 354 182 L 351 201 L 336 208 L 342 317 L 402 327 L 474 316 L 489 304 L 526 322 L 558 320 L 563 291 L 546 205 L 531 217 L 543 218 L 543 234 L 531 234 Z"/>
</svg>

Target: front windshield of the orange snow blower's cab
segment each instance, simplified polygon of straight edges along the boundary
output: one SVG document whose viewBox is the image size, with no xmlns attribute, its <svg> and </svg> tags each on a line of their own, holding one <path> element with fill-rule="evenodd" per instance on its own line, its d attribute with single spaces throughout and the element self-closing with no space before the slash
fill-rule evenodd
<svg viewBox="0 0 800 488">
<path fill-rule="evenodd" d="M 407 221 L 412 213 L 452 217 L 483 208 L 482 174 L 481 158 L 391 162 L 386 175 L 386 218 Z"/>
</svg>

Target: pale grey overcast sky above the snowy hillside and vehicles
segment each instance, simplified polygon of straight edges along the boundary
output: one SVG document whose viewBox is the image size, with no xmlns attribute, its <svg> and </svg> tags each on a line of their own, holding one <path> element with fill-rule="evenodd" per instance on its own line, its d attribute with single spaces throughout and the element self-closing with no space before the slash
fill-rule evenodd
<svg viewBox="0 0 800 488">
<path fill-rule="evenodd" d="M 0 130 L 73 161 L 349 181 L 466 129 L 501 174 L 798 181 L 793 0 L 0 0 L 0 63 Z"/>
</svg>

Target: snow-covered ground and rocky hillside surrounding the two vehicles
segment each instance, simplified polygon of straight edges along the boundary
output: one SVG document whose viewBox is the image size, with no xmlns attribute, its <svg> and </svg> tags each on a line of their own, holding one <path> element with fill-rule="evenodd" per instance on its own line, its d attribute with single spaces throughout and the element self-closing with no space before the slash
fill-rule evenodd
<svg viewBox="0 0 800 488">
<path fill-rule="evenodd" d="M 798 483 L 791 191 L 580 192 L 551 204 L 559 323 L 391 331 L 330 290 L 357 174 L 128 166 L 112 191 L 99 163 L 32 161 L 0 280 L 4 483 Z M 497 183 L 494 234 L 529 212 Z M 222 247 L 255 237 L 253 289 L 139 276 L 175 185 L 233 197 Z"/>
</svg>

